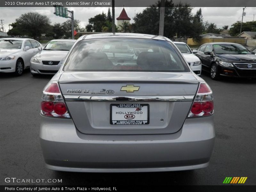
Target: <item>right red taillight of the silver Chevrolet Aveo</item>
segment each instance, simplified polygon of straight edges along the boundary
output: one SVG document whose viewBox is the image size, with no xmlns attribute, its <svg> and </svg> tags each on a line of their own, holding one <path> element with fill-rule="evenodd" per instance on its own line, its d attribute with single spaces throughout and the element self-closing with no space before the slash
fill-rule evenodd
<svg viewBox="0 0 256 192">
<path fill-rule="evenodd" d="M 208 84 L 201 82 L 188 117 L 210 116 L 213 110 L 213 95 Z"/>
</svg>

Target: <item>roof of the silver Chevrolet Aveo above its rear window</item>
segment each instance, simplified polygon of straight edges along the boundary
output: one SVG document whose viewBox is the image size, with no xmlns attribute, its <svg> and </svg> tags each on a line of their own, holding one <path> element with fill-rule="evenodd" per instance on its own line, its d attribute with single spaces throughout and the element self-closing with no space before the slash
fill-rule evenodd
<svg viewBox="0 0 256 192">
<path fill-rule="evenodd" d="M 79 40 L 81 40 L 81 39 L 98 39 L 98 38 L 142 38 L 142 39 L 155 39 L 155 40 L 171 41 L 170 39 L 168 39 L 164 36 L 139 34 L 139 33 L 97 33 L 97 34 L 81 36 L 79 38 Z"/>
</svg>

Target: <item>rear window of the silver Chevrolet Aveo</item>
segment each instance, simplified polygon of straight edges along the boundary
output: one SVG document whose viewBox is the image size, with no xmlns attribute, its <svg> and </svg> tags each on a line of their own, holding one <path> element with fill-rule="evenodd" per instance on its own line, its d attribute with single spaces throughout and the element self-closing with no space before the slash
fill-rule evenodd
<svg viewBox="0 0 256 192">
<path fill-rule="evenodd" d="M 172 71 L 188 72 L 169 42 L 150 39 L 82 40 L 69 55 L 66 71 Z"/>
</svg>

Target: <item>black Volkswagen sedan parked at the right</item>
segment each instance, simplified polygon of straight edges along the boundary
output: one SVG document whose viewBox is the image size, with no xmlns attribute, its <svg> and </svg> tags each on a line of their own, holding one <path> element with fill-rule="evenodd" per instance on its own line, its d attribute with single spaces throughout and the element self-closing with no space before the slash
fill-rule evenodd
<svg viewBox="0 0 256 192">
<path fill-rule="evenodd" d="M 211 78 L 220 76 L 256 78 L 256 56 L 244 46 L 235 43 L 206 43 L 197 49 L 202 70 Z"/>
</svg>

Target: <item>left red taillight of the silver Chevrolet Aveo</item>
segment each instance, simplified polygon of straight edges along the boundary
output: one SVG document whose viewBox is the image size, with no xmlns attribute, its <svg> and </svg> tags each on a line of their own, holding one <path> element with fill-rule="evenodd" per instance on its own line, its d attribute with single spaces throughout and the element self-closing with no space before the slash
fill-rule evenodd
<svg viewBox="0 0 256 192">
<path fill-rule="evenodd" d="M 44 116 L 70 118 L 67 106 L 57 82 L 50 82 L 43 91 L 41 114 Z"/>
</svg>

